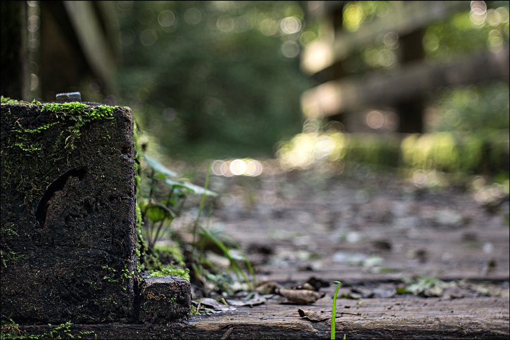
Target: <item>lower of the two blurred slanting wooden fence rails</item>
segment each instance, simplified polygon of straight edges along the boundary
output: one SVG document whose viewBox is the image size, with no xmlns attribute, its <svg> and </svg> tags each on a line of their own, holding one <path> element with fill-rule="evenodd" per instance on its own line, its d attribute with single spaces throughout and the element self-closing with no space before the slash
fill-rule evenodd
<svg viewBox="0 0 510 340">
<path fill-rule="evenodd" d="M 303 113 L 331 116 L 367 106 L 392 106 L 420 98 L 431 89 L 490 80 L 509 80 L 508 44 L 497 53 L 481 51 L 449 64 L 422 61 L 402 67 L 395 75 L 365 75 L 330 81 L 301 96 Z"/>
</svg>

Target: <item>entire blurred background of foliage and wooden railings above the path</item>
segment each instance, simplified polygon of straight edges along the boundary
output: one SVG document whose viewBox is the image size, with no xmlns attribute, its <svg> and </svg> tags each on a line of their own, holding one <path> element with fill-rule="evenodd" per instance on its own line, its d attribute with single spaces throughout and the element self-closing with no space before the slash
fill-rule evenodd
<svg viewBox="0 0 510 340">
<path fill-rule="evenodd" d="M 508 17 L 498 1 L 3 2 L 2 95 L 129 106 L 171 159 L 507 173 Z"/>
</svg>

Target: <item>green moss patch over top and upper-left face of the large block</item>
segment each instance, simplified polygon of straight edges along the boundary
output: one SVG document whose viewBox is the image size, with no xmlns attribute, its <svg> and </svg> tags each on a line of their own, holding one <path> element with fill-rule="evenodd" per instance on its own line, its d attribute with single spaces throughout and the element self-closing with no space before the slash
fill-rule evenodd
<svg viewBox="0 0 510 340">
<path fill-rule="evenodd" d="M 39 126 L 23 126 L 23 120 L 18 119 L 11 129 L 7 146 L 2 149 L 2 189 L 7 189 L 12 182 L 16 189 L 25 195 L 24 202 L 32 201 L 34 195 L 39 194 L 50 183 L 50 171 L 55 164 L 66 157 L 77 147 L 85 125 L 97 119 L 113 119 L 113 112 L 117 107 L 98 106 L 89 107 L 80 102 L 46 103 L 38 101 L 32 103 L 12 100 L 2 97 L 2 112 L 11 112 L 14 104 L 21 104 L 30 108 L 37 107 L 45 118 Z M 48 114 L 50 113 L 50 114 Z M 60 129 L 55 136 L 55 129 Z M 43 148 L 46 140 L 53 138 L 55 142 L 50 148 Z M 108 129 L 105 138 L 110 139 Z M 46 171 L 46 173 L 41 173 Z M 35 185 L 32 181 L 38 178 Z"/>
</svg>

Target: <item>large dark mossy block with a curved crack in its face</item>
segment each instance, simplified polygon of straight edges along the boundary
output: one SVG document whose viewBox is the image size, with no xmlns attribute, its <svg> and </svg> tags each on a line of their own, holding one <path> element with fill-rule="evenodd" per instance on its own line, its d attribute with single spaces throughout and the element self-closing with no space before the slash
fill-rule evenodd
<svg viewBox="0 0 510 340">
<path fill-rule="evenodd" d="M 2 320 L 136 321 L 129 108 L 3 103 Z"/>
</svg>

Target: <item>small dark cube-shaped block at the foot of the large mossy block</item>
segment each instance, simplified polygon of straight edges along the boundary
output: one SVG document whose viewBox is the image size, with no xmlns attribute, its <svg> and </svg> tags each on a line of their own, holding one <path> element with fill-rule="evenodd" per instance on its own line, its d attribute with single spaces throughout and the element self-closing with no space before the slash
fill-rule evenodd
<svg viewBox="0 0 510 340">
<path fill-rule="evenodd" d="M 154 276 L 141 284 L 139 321 L 166 324 L 187 320 L 191 313 L 191 285 L 179 276 Z"/>
</svg>

